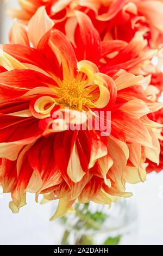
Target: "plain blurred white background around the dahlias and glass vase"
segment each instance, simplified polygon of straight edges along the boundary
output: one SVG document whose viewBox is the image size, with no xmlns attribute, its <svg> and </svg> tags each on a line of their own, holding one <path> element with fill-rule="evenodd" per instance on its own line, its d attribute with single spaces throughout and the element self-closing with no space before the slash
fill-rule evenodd
<svg viewBox="0 0 163 256">
<path fill-rule="evenodd" d="M 5 16 L 9 1 L 2 6 L 0 0 L 0 43 L 8 43 L 8 32 L 12 20 Z M 127 185 L 127 191 L 134 193 L 139 216 L 136 245 L 163 245 L 163 171 L 151 173 L 145 184 Z M 0 245 L 53 245 L 59 235 L 57 223 L 49 222 L 54 213 L 53 202 L 40 205 L 35 196 L 28 194 L 27 205 L 19 214 L 12 214 L 8 208 L 10 195 L 0 196 Z M 128 200 L 128 199 L 127 199 Z"/>
</svg>

